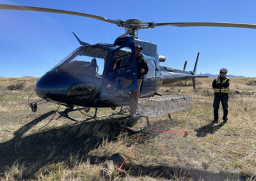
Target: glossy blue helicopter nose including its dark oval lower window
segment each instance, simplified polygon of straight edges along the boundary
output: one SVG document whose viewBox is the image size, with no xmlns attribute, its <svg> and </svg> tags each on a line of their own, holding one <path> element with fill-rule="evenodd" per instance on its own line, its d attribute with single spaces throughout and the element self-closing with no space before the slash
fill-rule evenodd
<svg viewBox="0 0 256 181">
<path fill-rule="evenodd" d="M 92 78 L 87 76 L 49 72 L 36 82 L 35 92 L 47 101 L 66 105 L 83 105 L 99 87 L 96 84 L 100 85 L 100 82 L 93 82 Z"/>
</svg>

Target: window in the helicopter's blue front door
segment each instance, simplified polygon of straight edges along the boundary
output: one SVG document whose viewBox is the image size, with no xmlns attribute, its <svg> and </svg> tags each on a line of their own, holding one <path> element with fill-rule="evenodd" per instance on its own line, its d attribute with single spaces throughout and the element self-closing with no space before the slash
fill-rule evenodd
<svg viewBox="0 0 256 181">
<path fill-rule="evenodd" d="M 132 56 L 131 56 L 131 48 L 124 47 L 115 52 L 113 57 L 113 62 L 111 65 L 111 72 L 124 71 L 125 68 L 129 68 L 131 66 Z"/>
</svg>

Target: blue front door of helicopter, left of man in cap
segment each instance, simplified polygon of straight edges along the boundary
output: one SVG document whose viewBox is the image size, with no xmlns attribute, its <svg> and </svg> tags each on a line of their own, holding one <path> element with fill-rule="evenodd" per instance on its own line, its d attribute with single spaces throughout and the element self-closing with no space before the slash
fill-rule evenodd
<svg viewBox="0 0 256 181">
<path fill-rule="evenodd" d="M 102 83 L 102 101 L 137 89 L 134 44 L 119 47 L 109 55 Z"/>
</svg>

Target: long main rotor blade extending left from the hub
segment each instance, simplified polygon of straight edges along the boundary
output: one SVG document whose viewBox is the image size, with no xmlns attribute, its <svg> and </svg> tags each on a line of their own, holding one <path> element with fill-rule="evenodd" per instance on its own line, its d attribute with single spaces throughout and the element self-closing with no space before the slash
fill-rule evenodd
<svg viewBox="0 0 256 181">
<path fill-rule="evenodd" d="M 109 22 L 111 24 L 120 24 L 117 20 L 111 20 L 105 17 L 99 17 L 96 15 L 90 15 L 86 13 L 78 13 L 75 11 L 65 11 L 65 10 L 55 10 L 50 8 L 38 8 L 38 7 L 32 7 L 32 6 L 17 6 L 17 5 L 9 5 L 9 4 L 0 4 L 1 10 L 22 10 L 22 11 L 40 11 L 40 12 L 47 12 L 47 13 L 60 13 L 60 14 L 66 14 L 66 15 L 76 15 L 79 17 L 88 17 L 88 18 L 94 18 L 97 20 L 102 20 L 104 22 Z"/>
</svg>

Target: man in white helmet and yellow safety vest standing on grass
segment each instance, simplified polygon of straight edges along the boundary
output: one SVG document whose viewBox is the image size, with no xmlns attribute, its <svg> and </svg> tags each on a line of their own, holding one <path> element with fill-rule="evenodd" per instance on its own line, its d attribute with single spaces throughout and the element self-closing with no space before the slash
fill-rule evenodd
<svg viewBox="0 0 256 181">
<path fill-rule="evenodd" d="M 220 75 L 212 82 L 214 90 L 213 113 L 214 120 L 212 123 L 218 123 L 220 102 L 223 108 L 223 122 L 227 122 L 228 118 L 228 92 L 229 92 L 229 78 L 227 77 L 228 70 L 220 69 Z"/>
</svg>

